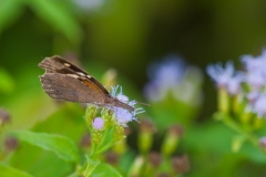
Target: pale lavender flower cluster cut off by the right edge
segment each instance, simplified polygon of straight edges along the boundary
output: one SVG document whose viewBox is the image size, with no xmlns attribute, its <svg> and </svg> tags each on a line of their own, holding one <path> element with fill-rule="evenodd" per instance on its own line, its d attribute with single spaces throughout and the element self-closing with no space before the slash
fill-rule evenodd
<svg viewBox="0 0 266 177">
<path fill-rule="evenodd" d="M 241 61 L 245 71 L 235 71 L 233 63 L 227 62 L 225 67 L 222 64 L 209 65 L 207 73 L 218 87 L 225 87 L 231 95 L 241 93 L 246 98 L 246 113 L 266 117 L 266 50 L 258 56 L 244 55 Z M 243 82 L 247 86 L 242 85 Z"/>
</svg>

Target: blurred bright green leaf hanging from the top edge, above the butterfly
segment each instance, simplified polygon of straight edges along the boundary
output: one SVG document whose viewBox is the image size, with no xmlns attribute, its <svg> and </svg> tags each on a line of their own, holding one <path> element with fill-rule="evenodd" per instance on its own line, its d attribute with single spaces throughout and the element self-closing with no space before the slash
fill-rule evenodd
<svg viewBox="0 0 266 177">
<path fill-rule="evenodd" d="M 30 0 L 29 2 L 41 19 L 62 32 L 72 43 L 80 43 L 81 28 L 64 1 Z"/>
</svg>

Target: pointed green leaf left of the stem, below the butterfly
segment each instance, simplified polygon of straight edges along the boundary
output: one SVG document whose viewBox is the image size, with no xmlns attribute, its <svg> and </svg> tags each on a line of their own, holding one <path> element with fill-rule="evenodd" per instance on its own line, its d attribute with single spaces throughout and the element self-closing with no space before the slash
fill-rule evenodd
<svg viewBox="0 0 266 177">
<path fill-rule="evenodd" d="M 13 132 L 12 135 L 20 140 L 35 145 L 45 150 L 51 150 L 65 162 L 79 163 L 80 158 L 78 147 L 65 136 L 47 133 L 33 133 L 30 131 L 17 131 Z"/>
</svg>

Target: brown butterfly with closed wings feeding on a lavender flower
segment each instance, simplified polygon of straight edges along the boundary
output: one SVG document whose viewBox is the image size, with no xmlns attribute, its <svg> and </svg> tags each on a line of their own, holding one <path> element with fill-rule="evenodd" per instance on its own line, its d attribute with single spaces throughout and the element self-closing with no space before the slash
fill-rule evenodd
<svg viewBox="0 0 266 177">
<path fill-rule="evenodd" d="M 38 66 L 45 70 L 40 80 L 44 92 L 52 98 L 122 107 L 130 112 L 135 110 L 113 97 L 96 79 L 61 56 L 45 58 Z"/>
</svg>

